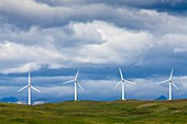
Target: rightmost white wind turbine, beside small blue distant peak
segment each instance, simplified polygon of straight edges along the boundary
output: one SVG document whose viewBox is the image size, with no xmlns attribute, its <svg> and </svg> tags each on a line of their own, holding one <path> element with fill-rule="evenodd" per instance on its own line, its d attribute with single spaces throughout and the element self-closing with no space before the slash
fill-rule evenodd
<svg viewBox="0 0 187 124">
<path fill-rule="evenodd" d="M 168 91 L 169 98 L 168 98 L 168 100 L 172 100 L 172 86 L 174 86 L 178 90 L 178 87 L 172 80 L 173 74 L 174 74 L 174 68 L 172 68 L 170 76 L 167 80 L 164 80 L 164 81 L 157 83 L 157 84 L 162 84 L 162 83 L 168 82 L 168 84 L 169 84 L 168 86 L 169 87 L 169 91 Z"/>
</svg>

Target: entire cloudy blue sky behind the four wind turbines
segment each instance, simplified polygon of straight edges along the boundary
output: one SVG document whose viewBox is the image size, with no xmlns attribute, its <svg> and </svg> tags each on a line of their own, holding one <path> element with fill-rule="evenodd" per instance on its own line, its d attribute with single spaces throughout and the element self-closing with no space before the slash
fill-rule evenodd
<svg viewBox="0 0 187 124">
<path fill-rule="evenodd" d="M 26 100 L 28 83 L 42 93 L 33 99 L 74 99 L 80 69 L 79 100 L 121 98 L 118 68 L 127 80 L 127 99 L 168 97 L 169 77 L 187 98 L 186 0 L 0 0 L 0 98 Z"/>
</svg>

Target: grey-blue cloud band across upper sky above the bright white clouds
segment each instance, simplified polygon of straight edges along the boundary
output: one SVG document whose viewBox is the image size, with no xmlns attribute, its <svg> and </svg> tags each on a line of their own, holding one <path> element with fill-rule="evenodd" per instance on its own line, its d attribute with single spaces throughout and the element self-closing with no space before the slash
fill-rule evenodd
<svg viewBox="0 0 187 124">
<path fill-rule="evenodd" d="M 167 19 L 162 15 L 152 16 L 156 14 L 153 9 L 150 13 L 142 10 L 143 8 L 130 9 L 129 7 L 121 7 L 120 4 L 136 3 L 136 4 L 154 4 L 155 1 L 92 1 L 89 4 L 86 1 L 51 1 L 53 3 L 61 3 L 64 5 L 52 7 L 46 3 L 34 2 L 34 1 L 22 1 L 19 2 L 7 2 L 1 1 L 0 15 L 2 16 L 1 23 L 10 23 L 22 29 L 30 29 L 32 25 L 37 25 L 41 27 L 53 27 L 53 26 L 64 26 L 69 23 L 69 21 L 75 22 L 90 22 L 95 20 L 102 20 L 107 22 L 112 22 L 118 26 L 123 26 L 133 30 L 155 30 L 163 21 Z M 67 5 L 67 3 L 73 5 Z M 74 3 L 75 2 L 75 3 Z M 85 3 L 86 2 L 86 3 Z M 121 3 L 122 2 L 122 3 Z M 82 3 L 81 5 L 79 3 Z M 156 2 L 157 3 L 157 2 Z M 168 3 L 170 3 L 168 1 Z M 174 2 L 175 3 L 175 2 Z M 23 7 L 21 7 L 23 4 Z M 74 5 L 75 4 L 75 5 Z M 117 4 L 117 5 L 112 5 Z M 37 12 L 35 12 L 37 11 Z M 160 14 L 160 13 L 157 13 Z M 168 15 L 169 16 L 169 15 Z M 163 18 L 158 20 L 157 18 Z M 173 20 L 170 18 L 169 20 Z M 152 23 L 155 23 L 153 26 Z M 167 24 L 167 23 L 166 23 Z M 167 26 L 167 25 L 166 25 Z M 162 29 L 163 30 L 163 29 Z M 161 31 L 162 31 L 161 30 Z"/>
</svg>

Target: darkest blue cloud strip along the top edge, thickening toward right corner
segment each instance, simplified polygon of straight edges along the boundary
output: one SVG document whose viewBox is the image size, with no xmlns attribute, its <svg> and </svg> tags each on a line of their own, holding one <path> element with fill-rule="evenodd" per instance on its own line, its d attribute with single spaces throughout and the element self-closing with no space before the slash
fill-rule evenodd
<svg viewBox="0 0 187 124">
<path fill-rule="evenodd" d="M 129 7 L 138 9 L 154 9 L 165 12 L 175 12 L 178 14 L 186 13 L 187 1 L 186 0 L 36 0 L 36 2 L 46 3 L 48 5 L 84 5 L 84 4 L 97 4 L 105 3 L 113 7 Z"/>
</svg>

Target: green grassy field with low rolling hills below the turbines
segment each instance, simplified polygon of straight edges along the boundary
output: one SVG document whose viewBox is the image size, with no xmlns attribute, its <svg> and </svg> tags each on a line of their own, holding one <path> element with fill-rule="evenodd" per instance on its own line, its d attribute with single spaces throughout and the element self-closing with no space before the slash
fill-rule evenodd
<svg viewBox="0 0 187 124">
<path fill-rule="evenodd" d="M 187 100 L 0 103 L 0 124 L 187 124 Z"/>
</svg>

